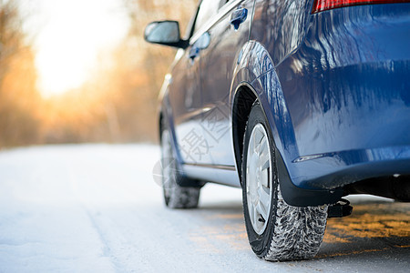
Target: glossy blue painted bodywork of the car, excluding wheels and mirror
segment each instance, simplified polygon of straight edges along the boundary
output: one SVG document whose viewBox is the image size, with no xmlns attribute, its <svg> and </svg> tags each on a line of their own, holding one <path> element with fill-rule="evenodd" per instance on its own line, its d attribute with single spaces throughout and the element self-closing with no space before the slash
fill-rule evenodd
<svg viewBox="0 0 410 273">
<path fill-rule="evenodd" d="M 209 157 L 181 152 L 179 163 L 235 165 L 235 136 L 209 125 L 230 128 L 235 92 L 247 84 L 295 186 L 410 175 L 410 4 L 312 15 L 312 3 L 245 1 L 250 15 L 239 31 L 221 17 L 207 30 L 210 46 L 194 62 L 176 62 L 163 103 L 175 147 L 192 127 L 209 144 Z"/>
</svg>

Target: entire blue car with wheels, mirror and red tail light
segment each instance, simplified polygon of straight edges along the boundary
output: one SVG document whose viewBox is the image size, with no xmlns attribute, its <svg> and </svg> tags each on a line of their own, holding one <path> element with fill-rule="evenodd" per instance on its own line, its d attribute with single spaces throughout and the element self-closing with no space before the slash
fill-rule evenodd
<svg viewBox="0 0 410 273">
<path fill-rule="evenodd" d="M 253 252 L 313 258 L 328 217 L 410 200 L 410 1 L 202 0 L 160 91 L 165 203 L 241 187 Z"/>
</svg>

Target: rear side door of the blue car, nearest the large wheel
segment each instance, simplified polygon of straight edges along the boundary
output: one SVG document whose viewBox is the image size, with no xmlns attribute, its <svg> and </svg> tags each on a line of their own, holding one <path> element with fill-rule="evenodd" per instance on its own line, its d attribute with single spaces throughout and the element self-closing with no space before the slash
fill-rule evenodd
<svg viewBox="0 0 410 273">
<path fill-rule="evenodd" d="M 254 1 L 203 0 L 202 5 L 207 2 L 212 2 L 215 15 L 196 34 L 210 37 L 200 51 L 201 127 L 212 164 L 234 167 L 230 88 L 241 48 L 249 39 Z"/>
</svg>

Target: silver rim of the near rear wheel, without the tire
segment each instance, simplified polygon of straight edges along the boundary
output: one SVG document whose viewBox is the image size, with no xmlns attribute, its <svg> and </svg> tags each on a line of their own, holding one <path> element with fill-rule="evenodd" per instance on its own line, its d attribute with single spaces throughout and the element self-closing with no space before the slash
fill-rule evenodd
<svg viewBox="0 0 410 273">
<path fill-rule="evenodd" d="M 272 203 L 272 158 L 264 126 L 253 127 L 246 161 L 246 197 L 254 231 L 261 235 L 268 224 Z"/>
</svg>

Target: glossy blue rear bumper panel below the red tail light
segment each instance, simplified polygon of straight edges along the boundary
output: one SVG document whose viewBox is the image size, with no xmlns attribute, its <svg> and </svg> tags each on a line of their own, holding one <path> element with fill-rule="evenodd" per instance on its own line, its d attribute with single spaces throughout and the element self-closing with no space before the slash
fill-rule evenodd
<svg viewBox="0 0 410 273">
<path fill-rule="evenodd" d="M 297 147 L 283 158 L 292 186 L 410 175 L 409 48 L 410 4 L 312 15 L 304 42 L 276 69 Z"/>
</svg>

